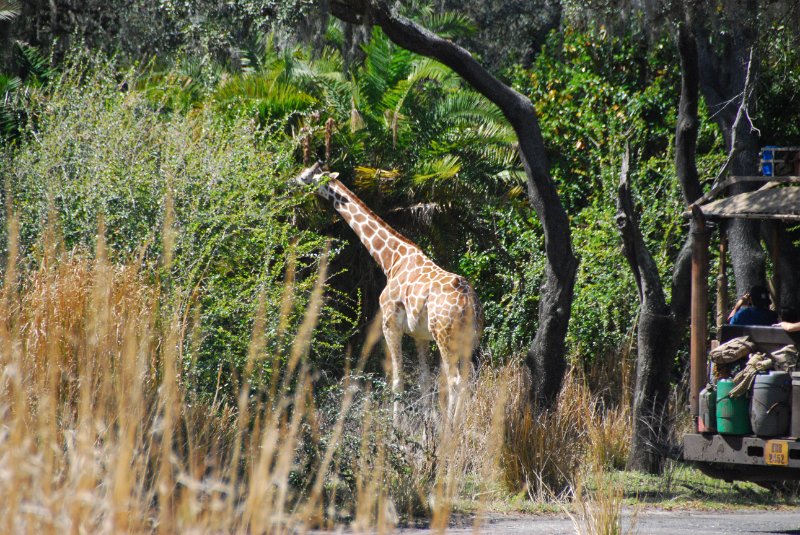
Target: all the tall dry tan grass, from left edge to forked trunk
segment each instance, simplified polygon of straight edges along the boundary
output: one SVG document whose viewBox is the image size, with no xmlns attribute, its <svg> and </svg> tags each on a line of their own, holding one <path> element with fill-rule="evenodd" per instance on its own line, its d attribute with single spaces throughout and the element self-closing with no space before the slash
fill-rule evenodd
<svg viewBox="0 0 800 535">
<path fill-rule="evenodd" d="M 198 396 L 183 353 L 193 343 L 185 338 L 191 314 L 165 299 L 164 281 L 141 263 L 112 264 L 102 227 L 93 259 L 60 250 L 50 231 L 39 265 L 20 273 L 9 221 L 0 298 L 4 533 L 280 533 L 344 523 L 387 532 L 419 516 L 444 530 L 460 497 L 479 512 L 499 488 L 567 497 L 587 466 L 617 466 L 627 453 L 624 409 L 605 407 L 573 372 L 558 410 L 534 412 L 519 363 L 479 369 L 457 425 L 412 410 L 393 426 L 388 389 L 376 392 L 381 382 L 362 371 L 378 323 L 335 392 L 315 392 L 306 356 L 324 263 L 290 354 L 265 356 L 262 302 L 238 399 Z M 284 310 L 292 296 L 290 277 Z M 281 325 L 274 336 L 290 336 Z M 263 358 L 277 372 L 256 386 L 250 378 Z"/>
</svg>

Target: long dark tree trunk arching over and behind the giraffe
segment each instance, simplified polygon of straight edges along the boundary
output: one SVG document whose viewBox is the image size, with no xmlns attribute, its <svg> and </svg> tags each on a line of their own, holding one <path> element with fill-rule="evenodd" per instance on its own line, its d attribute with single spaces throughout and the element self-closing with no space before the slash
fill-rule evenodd
<svg viewBox="0 0 800 535">
<path fill-rule="evenodd" d="M 564 339 L 578 262 L 572 251 L 569 219 L 547 166 L 533 103 L 495 78 L 465 49 L 397 15 L 381 1 L 332 0 L 331 10 L 345 22 L 377 24 L 399 46 L 453 69 L 500 108 L 514 128 L 527 175 L 528 198 L 542 224 L 547 256 L 539 301 L 539 328 L 526 364 L 532 376 L 532 401 L 552 406 L 566 370 Z"/>
</svg>

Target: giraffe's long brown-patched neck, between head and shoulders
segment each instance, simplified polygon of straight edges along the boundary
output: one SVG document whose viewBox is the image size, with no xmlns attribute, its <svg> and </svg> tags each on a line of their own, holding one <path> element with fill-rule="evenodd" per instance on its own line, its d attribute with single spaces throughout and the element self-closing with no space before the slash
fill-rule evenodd
<svg viewBox="0 0 800 535">
<path fill-rule="evenodd" d="M 387 277 L 392 275 L 392 268 L 401 260 L 417 254 L 424 256 L 419 247 L 367 208 L 361 199 L 338 180 L 331 179 L 320 186 L 318 193 L 333 203 L 333 207 L 355 231 Z"/>
</svg>

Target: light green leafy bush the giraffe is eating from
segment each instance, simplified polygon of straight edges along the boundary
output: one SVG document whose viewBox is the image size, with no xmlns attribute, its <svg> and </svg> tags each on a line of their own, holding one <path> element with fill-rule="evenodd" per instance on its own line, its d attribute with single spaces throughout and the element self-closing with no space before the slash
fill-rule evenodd
<svg viewBox="0 0 800 535">
<path fill-rule="evenodd" d="M 197 330 L 185 348 L 186 371 L 201 390 L 224 393 L 246 359 L 259 295 L 274 333 L 288 258 L 297 258 L 293 310 L 302 310 L 325 240 L 293 224 L 302 196 L 287 185 L 293 162 L 282 138 L 203 107 L 162 113 L 145 92 L 128 89 L 136 76 L 120 80 L 113 65 L 82 60 L 52 90 L 32 95 L 35 120 L 2 164 L 23 254 L 37 261 L 50 223 L 64 247 L 92 251 L 102 219 L 112 258 L 139 258 L 161 280 L 165 302 L 181 308 L 184 327 Z M 165 218 L 174 229 L 169 272 L 161 267 Z M 351 328 L 326 309 L 314 357 L 336 366 Z M 264 364 L 259 377 L 269 371 Z"/>
</svg>

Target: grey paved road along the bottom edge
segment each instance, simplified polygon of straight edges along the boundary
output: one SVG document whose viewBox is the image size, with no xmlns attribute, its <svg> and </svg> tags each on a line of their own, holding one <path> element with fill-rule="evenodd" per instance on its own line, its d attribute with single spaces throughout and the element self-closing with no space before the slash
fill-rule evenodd
<svg viewBox="0 0 800 535">
<path fill-rule="evenodd" d="M 623 522 L 623 533 L 630 524 L 630 513 Z M 430 530 L 400 530 L 406 535 L 423 535 Z M 567 516 L 490 516 L 479 533 L 531 535 L 574 535 L 575 525 Z M 697 512 L 640 511 L 636 515 L 635 533 L 639 535 L 709 535 L 766 533 L 800 535 L 800 508 L 785 511 Z M 447 530 L 448 534 L 475 533 L 473 527 Z"/>
</svg>

